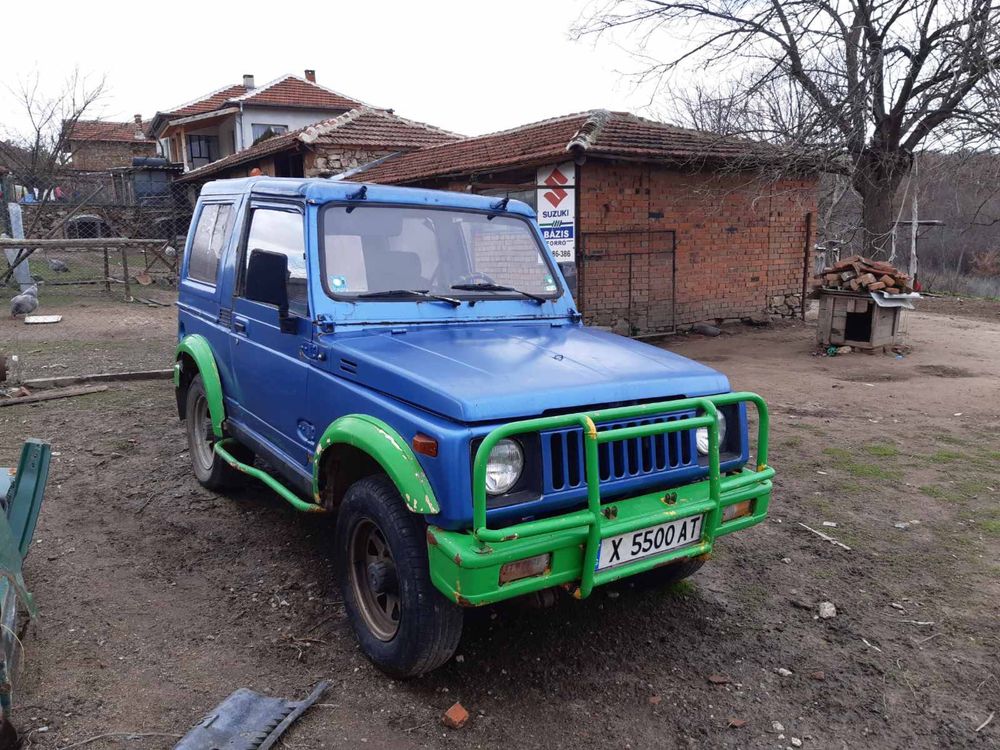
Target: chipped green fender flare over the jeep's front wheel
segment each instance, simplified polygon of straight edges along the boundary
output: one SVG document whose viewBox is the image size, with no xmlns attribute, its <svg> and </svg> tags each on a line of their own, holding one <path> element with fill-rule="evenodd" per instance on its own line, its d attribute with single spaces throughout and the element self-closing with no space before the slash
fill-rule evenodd
<svg viewBox="0 0 1000 750">
<path fill-rule="evenodd" d="M 323 452 L 334 445 L 350 445 L 374 458 L 414 513 L 438 513 L 441 508 L 427 475 L 402 436 L 385 422 L 365 414 L 348 414 L 333 422 L 316 444 L 313 457 L 313 497 L 319 502 L 319 474 Z"/>
</svg>

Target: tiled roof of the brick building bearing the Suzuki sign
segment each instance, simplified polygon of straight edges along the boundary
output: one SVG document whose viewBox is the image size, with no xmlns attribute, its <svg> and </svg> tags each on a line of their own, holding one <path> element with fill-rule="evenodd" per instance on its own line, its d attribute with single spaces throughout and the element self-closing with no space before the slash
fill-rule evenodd
<svg viewBox="0 0 1000 750">
<path fill-rule="evenodd" d="M 373 164 L 353 179 L 404 183 L 532 166 L 571 158 L 578 152 L 691 162 L 731 160 L 758 151 L 776 154 L 764 144 L 598 109 L 400 154 Z"/>
</svg>

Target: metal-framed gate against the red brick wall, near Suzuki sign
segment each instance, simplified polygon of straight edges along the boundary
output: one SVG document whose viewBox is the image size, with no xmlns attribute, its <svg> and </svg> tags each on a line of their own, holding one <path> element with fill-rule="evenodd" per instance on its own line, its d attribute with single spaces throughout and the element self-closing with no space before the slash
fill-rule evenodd
<svg viewBox="0 0 1000 750">
<path fill-rule="evenodd" d="M 589 325 L 638 336 L 674 330 L 673 230 L 586 232 L 580 307 Z"/>
</svg>

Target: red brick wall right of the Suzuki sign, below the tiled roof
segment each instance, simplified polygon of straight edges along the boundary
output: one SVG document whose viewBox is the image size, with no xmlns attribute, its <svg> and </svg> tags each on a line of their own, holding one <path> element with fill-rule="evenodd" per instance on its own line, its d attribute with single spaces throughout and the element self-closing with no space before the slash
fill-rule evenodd
<svg viewBox="0 0 1000 750">
<path fill-rule="evenodd" d="M 577 231 L 588 254 L 603 250 L 581 261 L 578 245 L 579 302 L 593 323 L 642 333 L 764 311 L 798 314 L 815 178 L 771 182 L 597 160 L 579 174 Z M 672 321 L 671 234 L 664 230 L 676 233 Z"/>
</svg>

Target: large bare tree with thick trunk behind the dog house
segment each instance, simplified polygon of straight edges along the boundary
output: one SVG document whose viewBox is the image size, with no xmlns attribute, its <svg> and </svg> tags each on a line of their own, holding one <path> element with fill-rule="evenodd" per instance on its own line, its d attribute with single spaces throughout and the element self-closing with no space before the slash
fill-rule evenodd
<svg viewBox="0 0 1000 750">
<path fill-rule="evenodd" d="M 610 0 L 575 33 L 615 30 L 637 32 L 641 81 L 724 71 L 728 87 L 702 96 L 715 102 L 709 124 L 725 113 L 736 123 L 730 134 L 794 146 L 848 175 L 869 254 L 888 251 L 893 201 L 915 151 L 996 132 L 1000 3 Z M 687 43 L 666 59 L 649 52 L 660 35 L 684 32 Z"/>
</svg>

